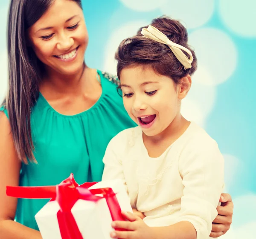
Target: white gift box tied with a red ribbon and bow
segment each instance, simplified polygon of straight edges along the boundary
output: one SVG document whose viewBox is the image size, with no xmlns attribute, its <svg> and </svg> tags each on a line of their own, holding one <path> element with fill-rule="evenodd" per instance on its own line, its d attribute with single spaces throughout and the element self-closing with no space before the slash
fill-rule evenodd
<svg viewBox="0 0 256 239">
<path fill-rule="evenodd" d="M 111 239 L 111 222 L 132 212 L 121 180 L 78 185 L 73 174 L 57 186 L 7 187 L 7 195 L 52 198 L 35 219 L 43 239 Z"/>
</svg>

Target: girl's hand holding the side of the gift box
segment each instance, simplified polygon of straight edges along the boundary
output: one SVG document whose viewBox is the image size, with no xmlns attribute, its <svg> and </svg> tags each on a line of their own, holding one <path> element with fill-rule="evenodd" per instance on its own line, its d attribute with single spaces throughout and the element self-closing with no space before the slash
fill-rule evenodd
<svg viewBox="0 0 256 239">
<path fill-rule="evenodd" d="M 154 239 L 154 232 L 151 227 L 145 224 L 140 216 L 130 212 L 123 212 L 122 215 L 128 221 L 114 221 L 112 228 L 125 229 L 125 231 L 112 231 L 111 238 L 119 239 Z"/>
</svg>

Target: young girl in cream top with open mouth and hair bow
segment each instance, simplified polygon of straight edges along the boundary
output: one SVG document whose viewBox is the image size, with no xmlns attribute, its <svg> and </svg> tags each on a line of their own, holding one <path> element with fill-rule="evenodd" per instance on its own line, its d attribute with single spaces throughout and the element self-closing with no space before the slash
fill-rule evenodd
<svg viewBox="0 0 256 239">
<path fill-rule="evenodd" d="M 141 32 L 141 33 L 140 33 Z M 154 19 L 116 52 L 123 103 L 139 126 L 114 137 L 105 152 L 102 180 L 121 178 L 131 205 L 113 222 L 120 239 L 206 239 L 224 186 L 217 143 L 180 114 L 197 68 L 186 28 Z"/>
</svg>

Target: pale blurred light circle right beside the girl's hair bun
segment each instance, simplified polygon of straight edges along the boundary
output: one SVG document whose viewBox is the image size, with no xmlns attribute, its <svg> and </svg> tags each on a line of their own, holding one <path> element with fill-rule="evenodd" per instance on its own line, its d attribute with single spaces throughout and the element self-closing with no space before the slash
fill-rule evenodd
<svg viewBox="0 0 256 239">
<path fill-rule="evenodd" d="M 192 32 L 189 45 L 195 49 L 199 68 L 201 65 L 210 78 L 201 82 L 218 85 L 228 80 L 236 69 L 237 49 L 230 37 L 215 28 L 202 28 Z M 203 73 L 204 74 L 204 73 Z"/>
</svg>

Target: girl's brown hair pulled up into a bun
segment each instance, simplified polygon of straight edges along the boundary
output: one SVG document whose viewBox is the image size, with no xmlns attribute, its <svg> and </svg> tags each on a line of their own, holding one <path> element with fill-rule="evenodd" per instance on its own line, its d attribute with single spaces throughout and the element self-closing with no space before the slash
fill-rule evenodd
<svg viewBox="0 0 256 239">
<path fill-rule="evenodd" d="M 172 78 L 176 84 L 187 74 L 192 75 L 197 68 L 195 52 L 188 45 L 188 32 L 186 28 L 177 20 L 163 16 L 152 20 L 151 26 L 163 32 L 169 40 L 186 47 L 192 52 L 192 68 L 184 69 L 183 65 L 177 60 L 169 46 L 148 39 L 141 34 L 142 28 L 137 35 L 123 40 L 115 54 L 117 60 L 117 76 L 120 79 L 120 72 L 124 68 L 131 66 L 151 67 L 157 74 Z M 189 55 L 184 52 L 187 57 Z"/>
</svg>

